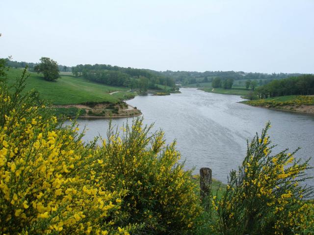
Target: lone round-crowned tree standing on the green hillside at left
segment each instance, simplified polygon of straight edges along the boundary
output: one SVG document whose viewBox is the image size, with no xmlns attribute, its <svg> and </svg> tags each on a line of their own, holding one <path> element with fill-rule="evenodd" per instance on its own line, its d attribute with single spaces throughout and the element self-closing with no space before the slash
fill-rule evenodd
<svg viewBox="0 0 314 235">
<path fill-rule="evenodd" d="M 57 62 L 48 57 L 41 57 L 40 61 L 41 63 L 36 65 L 34 70 L 43 73 L 45 80 L 55 81 L 60 77 Z"/>
</svg>

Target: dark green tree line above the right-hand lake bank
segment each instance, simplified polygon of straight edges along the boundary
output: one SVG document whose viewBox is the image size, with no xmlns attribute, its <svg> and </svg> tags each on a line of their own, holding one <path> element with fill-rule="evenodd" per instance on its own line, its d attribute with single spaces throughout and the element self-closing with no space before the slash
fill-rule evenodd
<svg viewBox="0 0 314 235">
<path fill-rule="evenodd" d="M 314 75 L 304 74 L 282 80 L 273 80 L 264 86 L 258 87 L 257 92 L 261 98 L 282 95 L 313 95 Z"/>
</svg>

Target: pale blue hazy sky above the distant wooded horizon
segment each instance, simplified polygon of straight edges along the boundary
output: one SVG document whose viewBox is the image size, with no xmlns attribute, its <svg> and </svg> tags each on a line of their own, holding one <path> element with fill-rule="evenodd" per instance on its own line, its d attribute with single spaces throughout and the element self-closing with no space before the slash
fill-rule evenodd
<svg viewBox="0 0 314 235">
<path fill-rule="evenodd" d="M 314 73 L 314 0 L 1 0 L 0 57 Z"/>
</svg>

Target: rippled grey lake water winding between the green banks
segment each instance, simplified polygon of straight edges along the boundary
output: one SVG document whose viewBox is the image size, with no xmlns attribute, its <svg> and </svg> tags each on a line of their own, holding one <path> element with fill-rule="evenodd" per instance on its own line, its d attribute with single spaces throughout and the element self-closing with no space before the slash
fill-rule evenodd
<svg viewBox="0 0 314 235">
<path fill-rule="evenodd" d="M 296 156 L 314 157 L 314 115 L 251 107 L 238 103 L 243 99 L 237 95 L 189 88 L 180 91 L 181 94 L 167 96 L 136 96 L 127 103 L 142 111 L 146 124 L 155 122 L 155 130 L 163 129 L 168 143 L 177 140 L 186 169 L 195 167 L 198 173 L 201 167 L 210 167 L 212 176 L 226 183 L 230 170 L 237 169 L 245 157 L 246 140 L 261 133 L 268 120 L 272 126 L 270 139 L 278 144 L 275 152 L 301 147 Z M 120 118 L 112 122 L 120 127 L 126 121 L 127 118 Z M 78 122 L 87 125 L 85 141 L 99 134 L 106 136 L 108 120 Z M 309 173 L 314 176 L 314 170 Z M 314 185 L 313 181 L 307 183 Z"/>
</svg>

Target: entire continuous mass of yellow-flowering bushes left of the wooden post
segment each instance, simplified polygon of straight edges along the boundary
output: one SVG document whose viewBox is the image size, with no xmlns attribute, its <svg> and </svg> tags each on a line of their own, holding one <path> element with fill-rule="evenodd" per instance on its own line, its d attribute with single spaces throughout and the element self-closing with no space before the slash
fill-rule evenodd
<svg viewBox="0 0 314 235">
<path fill-rule="evenodd" d="M 26 71 L 25 71 L 26 72 Z M 175 144 L 142 119 L 83 143 L 34 93 L 0 88 L 1 234 L 185 233 L 201 207 Z"/>
</svg>

